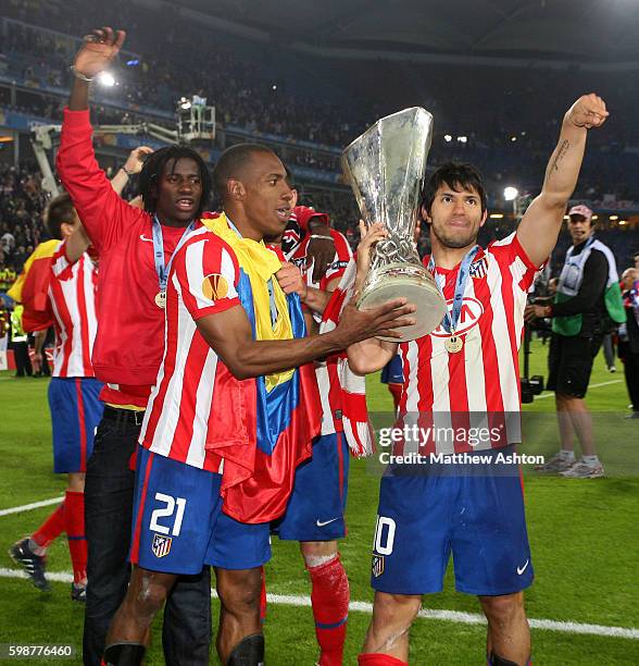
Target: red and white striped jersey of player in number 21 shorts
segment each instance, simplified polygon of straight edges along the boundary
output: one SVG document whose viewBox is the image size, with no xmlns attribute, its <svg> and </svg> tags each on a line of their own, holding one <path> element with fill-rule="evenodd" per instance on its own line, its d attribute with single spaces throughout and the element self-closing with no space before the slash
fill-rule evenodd
<svg viewBox="0 0 639 666">
<path fill-rule="evenodd" d="M 175 256 L 166 285 L 164 358 L 151 392 L 139 442 L 187 465 L 218 471 L 205 449 L 209 416 L 223 396 L 229 370 L 199 333 L 196 321 L 239 305 L 235 252 L 205 227 Z"/>
</svg>

